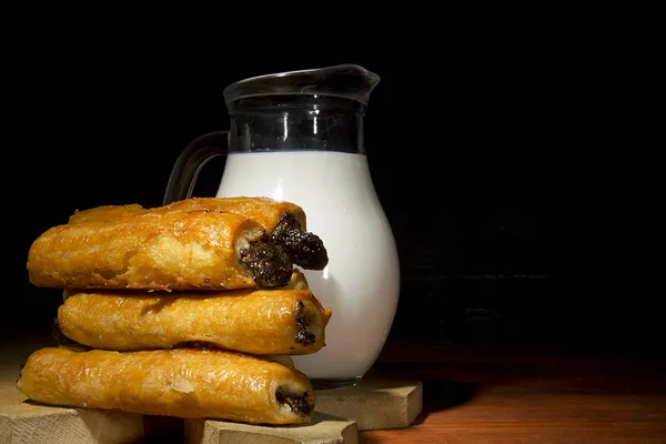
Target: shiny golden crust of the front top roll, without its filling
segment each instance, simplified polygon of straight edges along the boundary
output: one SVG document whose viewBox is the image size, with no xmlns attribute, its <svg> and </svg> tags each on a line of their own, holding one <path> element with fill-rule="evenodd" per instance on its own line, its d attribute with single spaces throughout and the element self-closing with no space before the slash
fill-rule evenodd
<svg viewBox="0 0 666 444">
<path fill-rule="evenodd" d="M 248 218 L 206 211 L 62 224 L 32 243 L 29 279 L 37 286 L 77 289 L 255 287 L 239 248 L 261 235 L 261 225 Z"/>
</svg>

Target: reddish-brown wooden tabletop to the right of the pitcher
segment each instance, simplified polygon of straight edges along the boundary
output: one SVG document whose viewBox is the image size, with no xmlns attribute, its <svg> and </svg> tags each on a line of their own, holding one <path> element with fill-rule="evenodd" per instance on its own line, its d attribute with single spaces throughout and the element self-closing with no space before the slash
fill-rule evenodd
<svg viewBox="0 0 666 444">
<path fill-rule="evenodd" d="M 392 345 L 374 372 L 421 379 L 424 408 L 365 444 L 666 443 L 664 360 Z"/>
</svg>

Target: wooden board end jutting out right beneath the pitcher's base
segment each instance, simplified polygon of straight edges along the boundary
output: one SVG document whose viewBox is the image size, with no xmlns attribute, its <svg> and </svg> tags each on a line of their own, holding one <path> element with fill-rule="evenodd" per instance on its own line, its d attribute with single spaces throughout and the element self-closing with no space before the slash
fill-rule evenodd
<svg viewBox="0 0 666 444">
<path fill-rule="evenodd" d="M 317 412 L 354 421 L 360 431 L 408 427 L 422 408 L 416 380 L 365 377 L 353 387 L 316 392 Z"/>
</svg>

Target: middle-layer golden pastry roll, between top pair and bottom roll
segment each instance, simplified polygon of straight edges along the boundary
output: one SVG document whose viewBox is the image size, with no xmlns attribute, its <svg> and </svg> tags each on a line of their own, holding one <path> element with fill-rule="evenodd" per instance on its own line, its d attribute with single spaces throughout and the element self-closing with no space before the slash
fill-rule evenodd
<svg viewBox="0 0 666 444">
<path fill-rule="evenodd" d="M 310 290 L 80 292 L 58 309 L 64 336 L 92 349 L 212 346 L 302 355 L 325 345 L 331 309 Z"/>
</svg>

